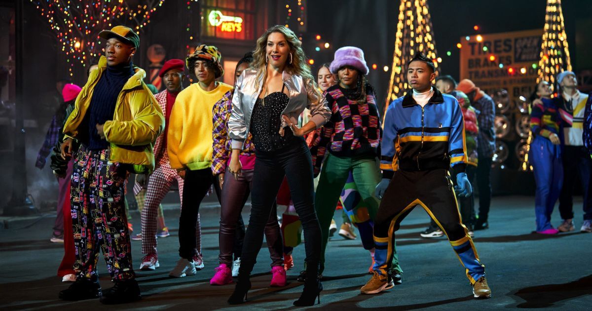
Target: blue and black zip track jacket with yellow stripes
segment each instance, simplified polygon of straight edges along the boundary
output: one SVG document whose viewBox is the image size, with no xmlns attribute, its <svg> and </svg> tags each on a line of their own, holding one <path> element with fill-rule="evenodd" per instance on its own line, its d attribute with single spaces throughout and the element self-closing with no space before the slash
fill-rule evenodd
<svg viewBox="0 0 592 311">
<path fill-rule="evenodd" d="M 380 168 L 383 178 L 394 171 L 449 169 L 464 172 L 467 162 L 465 127 L 461 106 L 451 95 L 434 88 L 422 108 L 413 91 L 388 106 L 382 134 Z"/>
</svg>

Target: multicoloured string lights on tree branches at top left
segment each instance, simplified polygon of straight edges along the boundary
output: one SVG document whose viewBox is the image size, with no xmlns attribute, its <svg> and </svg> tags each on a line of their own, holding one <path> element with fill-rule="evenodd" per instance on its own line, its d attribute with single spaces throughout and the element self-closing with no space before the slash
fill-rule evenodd
<svg viewBox="0 0 592 311">
<path fill-rule="evenodd" d="M 150 23 L 151 15 L 165 0 L 147 0 L 144 5 L 128 5 L 125 0 L 94 0 L 83 4 L 70 0 L 30 0 L 47 19 L 62 52 L 70 64 L 69 73 L 77 64 L 86 66 L 87 59 L 102 51 L 99 32 L 114 25 L 131 25 L 141 32 Z"/>
</svg>

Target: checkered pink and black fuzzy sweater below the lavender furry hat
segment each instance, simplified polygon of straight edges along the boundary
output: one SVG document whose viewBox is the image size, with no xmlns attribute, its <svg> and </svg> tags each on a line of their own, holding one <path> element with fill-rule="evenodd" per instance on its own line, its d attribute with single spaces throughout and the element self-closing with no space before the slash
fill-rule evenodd
<svg viewBox="0 0 592 311">
<path fill-rule="evenodd" d="M 314 169 L 320 169 L 327 149 L 336 156 L 378 156 L 382 129 L 372 86 L 366 84 L 363 104 L 349 100 L 339 85 L 327 89 L 325 96 L 332 115 L 310 149 Z"/>
</svg>

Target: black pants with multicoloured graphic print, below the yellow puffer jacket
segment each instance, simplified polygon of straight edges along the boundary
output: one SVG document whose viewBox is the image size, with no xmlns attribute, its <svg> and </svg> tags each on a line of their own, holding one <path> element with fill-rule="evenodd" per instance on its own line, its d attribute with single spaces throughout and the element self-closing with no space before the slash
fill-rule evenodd
<svg viewBox="0 0 592 311">
<path fill-rule="evenodd" d="M 131 267 L 130 235 L 124 206 L 124 165 L 108 161 L 110 149 L 76 154 L 71 179 L 72 231 L 78 277 L 97 275 L 101 248 L 112 280 L 135 277 Z"/>
</svg>

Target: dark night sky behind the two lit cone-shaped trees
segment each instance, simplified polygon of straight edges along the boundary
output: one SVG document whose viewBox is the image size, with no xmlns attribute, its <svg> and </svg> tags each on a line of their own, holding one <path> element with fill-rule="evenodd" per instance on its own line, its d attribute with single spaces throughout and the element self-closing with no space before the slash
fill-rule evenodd
<svg viewBox="0 0 592 311">
<path fill-rule="evenodd" d="M 377 63 L 368 78 L 377 88 L 378 101 L 384 100 L 390 73 L 381 70 L 391 65 L 394 37 L 397 31 L 398 0 L 339 0 L 308 1 L 308 31 L 315 31 L 334 47 L 352 45 L 361 47 L 366 61 Z M 545 0 L 429 0 L 436 49 L 443 58 L 442 73 L 458 78 L 459 51 L 456 43 L 461 36 L 506 31 L 542 29 L 545 23 Z M 592 29 L 592 1 L 564 1 L 568 43 L 574 69 L 592 69 L 592 42 L 588 29 Z M 322 12 L 322 13 L 321 13 Z M 473 30 L 479 25 L 479 32 Z M 312 37 L 312 36 L 311 36 Z M 314 39 L 308 39 L 314 40 Z M 308 56 L 316 61 L 333 59 L 330 50 L 314 52 L 310 42 L 304 42 Z M 446 56 L 450 50 L 452 56 Z"/>
</svg>

